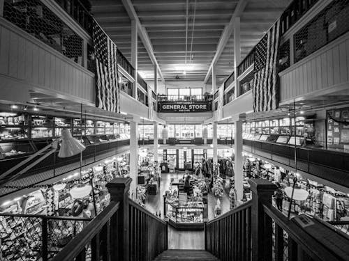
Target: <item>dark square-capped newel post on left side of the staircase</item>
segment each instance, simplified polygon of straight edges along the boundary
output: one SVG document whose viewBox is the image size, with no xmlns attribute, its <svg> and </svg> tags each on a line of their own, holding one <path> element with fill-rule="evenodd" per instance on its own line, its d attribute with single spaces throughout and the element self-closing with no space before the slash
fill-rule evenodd
<svg viewBox="0 0 349 261">
<path fill-rule="evenodd" d="M 132 179 L 130 177 L 115 177 L 107 184 L 111 200 L 119 202 L 119 210 L 110 219 L 110 260 L 129 260 L 129 239 L 128 239 L 128 191 Z"/>
</svg>

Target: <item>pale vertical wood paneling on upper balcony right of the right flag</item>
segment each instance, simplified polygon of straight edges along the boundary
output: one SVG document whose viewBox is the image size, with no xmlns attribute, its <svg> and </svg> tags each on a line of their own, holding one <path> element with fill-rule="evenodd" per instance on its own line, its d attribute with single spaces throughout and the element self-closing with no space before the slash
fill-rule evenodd
<svg viewBox="0 0 349 261">
<path fill-rule="evenodd" d="M 281 102 L 342 84 L 349 87 L 349 33 L 281 72 L 280 83 Z"/>
</svg>

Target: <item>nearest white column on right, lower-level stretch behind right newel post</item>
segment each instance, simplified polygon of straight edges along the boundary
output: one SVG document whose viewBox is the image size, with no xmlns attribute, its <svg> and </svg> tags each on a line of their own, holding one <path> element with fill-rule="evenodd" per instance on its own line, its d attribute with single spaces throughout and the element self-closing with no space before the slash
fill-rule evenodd
<svg viewBox="0 0 349 261">
<path fill-rule="evenodd" d="M 237 191 L 236 200 L 242 200 L 242 195 L 244 193 L 243 180 L 244 174 L 242 168 L 244 165 L 242 157 L 242 120 L 237 120 L 234 122 L 235 129 L 235 141 L 234 141 L 234 153 L 235 153 L 235 189 Z"/>
</svg>

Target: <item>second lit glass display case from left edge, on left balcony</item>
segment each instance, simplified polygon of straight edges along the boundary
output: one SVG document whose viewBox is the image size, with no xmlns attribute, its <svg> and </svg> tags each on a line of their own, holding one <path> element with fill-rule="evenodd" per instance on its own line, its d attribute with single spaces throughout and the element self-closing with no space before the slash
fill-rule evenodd
<svg viewBox="0 0 349 261">
<path fill-rule="evenodd" d="M 50 116 L 31 116 L 31 139 L 53 136 L 54 118 Z"/>
</svg>

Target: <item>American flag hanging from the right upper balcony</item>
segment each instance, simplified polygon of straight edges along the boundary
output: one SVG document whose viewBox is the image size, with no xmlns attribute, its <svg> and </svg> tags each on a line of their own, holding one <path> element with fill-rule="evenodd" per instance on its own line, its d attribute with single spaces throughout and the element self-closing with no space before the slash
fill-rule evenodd
<svg viewBox="0 0 349 261">
<path fill-rule="evenodd" d="M 258 42 L 253 51 L 252 84 L 254 111 L 270 111 L 279 106 L 278 49 L 280 20 Z"/>
</svg>

